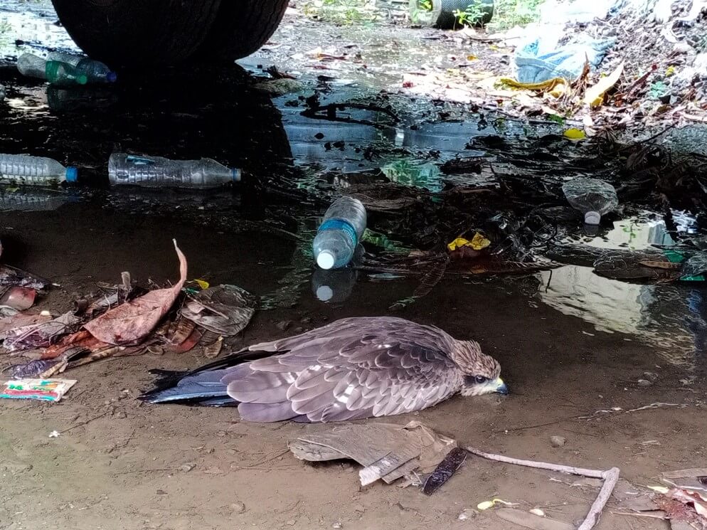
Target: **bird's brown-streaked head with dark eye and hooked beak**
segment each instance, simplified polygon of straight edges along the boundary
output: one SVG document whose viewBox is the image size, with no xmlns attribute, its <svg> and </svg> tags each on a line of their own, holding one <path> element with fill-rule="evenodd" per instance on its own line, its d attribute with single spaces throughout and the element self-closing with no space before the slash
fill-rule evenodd
<svg viewBox="0 0 707 530">
<path fill-rule="evenodd" d="M 506 396 L 508 387 L 501 379 L 501 365 L 496 359 L 482 354 L 475 341 L 456 341 L 452 360 L 464 372 L 462 396 L 499 393 Z"/>
</svg>

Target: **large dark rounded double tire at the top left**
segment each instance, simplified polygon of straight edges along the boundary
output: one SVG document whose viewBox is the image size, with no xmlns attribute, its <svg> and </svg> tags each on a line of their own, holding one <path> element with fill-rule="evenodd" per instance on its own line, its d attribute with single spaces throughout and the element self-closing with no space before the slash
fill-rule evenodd
<svg viewBox="0 0 707 530">
<path fill-rule="evenodd" d="M 52 2 L 75 43 L 114 68 L 245 57 L 270 38 L 287 8 L 287 0 Z"/>
</svg>

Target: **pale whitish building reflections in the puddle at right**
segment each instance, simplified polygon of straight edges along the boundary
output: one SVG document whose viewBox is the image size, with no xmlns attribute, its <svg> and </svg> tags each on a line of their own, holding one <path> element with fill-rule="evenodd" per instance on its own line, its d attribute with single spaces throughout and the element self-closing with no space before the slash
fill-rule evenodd
<svg viewBox="0 0 707 530">
<path fill-rule="evenodd" d="M 693 233 L 696 221 L 675 212 L 679 232 Z M 627 218 L 601 237 L 583 238 L 595 248 L 642 250 L 674 245 L 662 218 L 651 214 Z M 656 347 L 662 359 L 694 368 L 707 346 L 707 307 L 701 283 L 640 285 L 612 280 L 591 267 L 568 265 L 538 274 L 539 297 L 563 314 L 579 317 L 595 329 L 631 334 L 631 339 Z M 627 337 L 628 338 L 628 337 Z"/>
</svg>

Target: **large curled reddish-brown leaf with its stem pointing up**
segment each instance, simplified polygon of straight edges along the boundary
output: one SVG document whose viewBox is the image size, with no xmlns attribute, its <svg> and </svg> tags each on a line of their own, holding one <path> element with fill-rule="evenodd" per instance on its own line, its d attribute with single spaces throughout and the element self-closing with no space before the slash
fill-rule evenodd
<svg viewBox="0 0 707 530">
<path fill-rule="evenodd" d="M 186 258 L 174 240 L 179 257 L 179 282 L 174 287 L 156 289 L 125 302 L 85 324 L 96 339 L 108 344 L 135 344 L 144 339 L 169 311 L 186 282 Z"/>
</svg>

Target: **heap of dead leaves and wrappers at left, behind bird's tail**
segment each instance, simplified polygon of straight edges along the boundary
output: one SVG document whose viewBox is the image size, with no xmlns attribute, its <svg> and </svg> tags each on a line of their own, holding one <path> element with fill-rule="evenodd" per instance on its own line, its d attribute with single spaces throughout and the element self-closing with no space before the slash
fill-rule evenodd
<svg viewBox="0 0 707 530">
<path fill-rule="evenodd" d="M 206 358 L 218 356 L 225 339 L 248 326 L 257 299 L 235 285 L 187 282 L 186 257 L 176 241 L 174 248 L 176 284 L 147 290 L 124 272 L 122 284 L 103 285 L 58 315 L 31 310 L 49 282 L 4 265 L 0 285 L 9 288 L 0 299 L 2 349 L 30 360 L 4 370 L 13 380 L 0 397 L 58 401 L 75 381 L 51 378 L 108 357 L 184 353 L 197 346 Z"/>
</svg>

